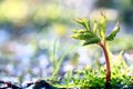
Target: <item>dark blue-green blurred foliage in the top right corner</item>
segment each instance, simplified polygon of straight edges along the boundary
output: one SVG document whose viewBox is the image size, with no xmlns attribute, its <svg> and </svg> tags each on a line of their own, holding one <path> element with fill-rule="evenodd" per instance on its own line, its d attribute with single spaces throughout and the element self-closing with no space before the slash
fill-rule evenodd
<svg viewBox="0 0 133 89">
<path fill-rule="evenodd" d="M 98 8 L 114 9 L 119 12 L 119 19 L 125 24 L 126 31 L 133 31 L 133 0 L 96 0 Z"/>
</svg>

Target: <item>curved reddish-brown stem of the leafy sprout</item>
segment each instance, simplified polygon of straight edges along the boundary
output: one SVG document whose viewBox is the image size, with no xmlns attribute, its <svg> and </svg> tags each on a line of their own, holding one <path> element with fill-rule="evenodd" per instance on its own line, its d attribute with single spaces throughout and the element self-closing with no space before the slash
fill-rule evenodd
<svg viewBox="0 0 133 89">
<path fill-rule="evenodd" d="M 103 49 L 104 57 L 105 57 L 105 62 L 106 62 L 106 86 L 108 86 L 108 85 L 110 85 L 110 80 L 111 80 L 111 67 L 110 67 L 109 52 L 108 52 L 108 49 L 106 49 L 105 41 L 100 42 L 99 46 Z"/>
</svg>

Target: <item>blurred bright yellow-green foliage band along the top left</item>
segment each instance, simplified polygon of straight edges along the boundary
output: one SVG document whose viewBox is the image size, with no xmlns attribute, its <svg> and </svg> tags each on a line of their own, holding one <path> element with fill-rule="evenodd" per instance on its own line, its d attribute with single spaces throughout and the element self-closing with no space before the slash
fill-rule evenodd
<svg viewBox="0 0 133 89">
<path fill-rule="evenodd" d="M 11 22 L 28 24 L 33 22 L 40 26 L 51 22 L 64 22 L 70 16 L 62 14 L 63 8 L 58 1 L 37 1 L 37 0 L 4 0 L 0 2 L 0 22 Z M 72 14 L 72 10 L 69 12 Z"/>
</svg>

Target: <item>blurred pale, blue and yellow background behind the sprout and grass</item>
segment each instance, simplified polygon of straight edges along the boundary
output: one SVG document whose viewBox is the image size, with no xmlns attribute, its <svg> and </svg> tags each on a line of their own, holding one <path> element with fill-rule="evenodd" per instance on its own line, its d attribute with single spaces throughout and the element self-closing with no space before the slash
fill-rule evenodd
<svg viewBox="0 0 133 89">
<path fill-rule="evenodd" d="M 108 18 L 108 33 L 116 21 L 121 31 L 111 51 L 133 62 L 133 0 L 0 0 L 0 79 L 23 81 L 52 75 L 52 51 L 55 59 L 76 44 L 71 29 L 79 28 L 75 18 Z M 88 48 L 88 49 L 86 49 Z M 90 48 L 90 49 L 89 49 Z M 98 51 L 99 50 L 99 51 Z M 60 72 L 95 62 L 104 63 L 99 47 L 75 46 L 64 57 Z"/>
</svg>

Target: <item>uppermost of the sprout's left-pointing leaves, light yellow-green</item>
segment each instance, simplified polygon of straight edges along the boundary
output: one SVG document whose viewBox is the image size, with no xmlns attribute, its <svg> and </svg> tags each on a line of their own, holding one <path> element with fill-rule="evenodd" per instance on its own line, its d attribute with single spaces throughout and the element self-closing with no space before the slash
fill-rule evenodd
<svg viewBox="0 0 133 89">
<path fill-rule="evenodd" d="M 78 18 L 75 21 L 82 24 L 86 30 L 91 30 L 90 21 L 85 18 Z"/>
</svg>

